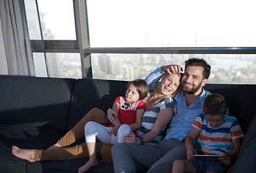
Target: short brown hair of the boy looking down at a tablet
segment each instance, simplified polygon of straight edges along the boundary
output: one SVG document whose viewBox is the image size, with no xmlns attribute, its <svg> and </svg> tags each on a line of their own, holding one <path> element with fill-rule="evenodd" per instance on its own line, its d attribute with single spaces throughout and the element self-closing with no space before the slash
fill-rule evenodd
<svg viewBox="0 0 256 173">
<path fill-rule="evenodd" d="M 202 111 L 205 115 L 226 115 L 226 102 L 221 94 L 210 94 L 203 102 Z"/>
</svg>

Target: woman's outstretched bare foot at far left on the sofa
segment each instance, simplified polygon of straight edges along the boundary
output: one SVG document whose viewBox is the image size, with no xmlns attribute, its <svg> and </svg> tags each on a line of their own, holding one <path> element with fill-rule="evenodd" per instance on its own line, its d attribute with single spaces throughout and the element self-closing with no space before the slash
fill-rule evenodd
<svg viewBox="0 0 256 173">
<path fill-rule="evenodd" d="M 12 146 L 12 154 L 20 159 L 25 159 L 30 162 L 35 161 L 35 150 L 34 149 L 21 149 L 17 146 Z"/>
</svg>

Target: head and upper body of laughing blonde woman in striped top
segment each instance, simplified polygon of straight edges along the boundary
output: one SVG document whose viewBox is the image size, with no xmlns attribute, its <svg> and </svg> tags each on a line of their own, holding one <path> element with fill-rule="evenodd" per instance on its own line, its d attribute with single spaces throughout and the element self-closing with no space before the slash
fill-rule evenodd
<svg viewBox="0 0 256 173">
<path fill-rule="evenodd" d="M 163 138 L 164 129 L 174 115 L 174 99 L 182 89 L 181 74 L 166 73 L 150 96 L 143 99 L 146 111 L 142 117 L 142 127 L 135 136 L 132 131 L 124 136 L 127 143 L 154 145 Z"/>
</svg>

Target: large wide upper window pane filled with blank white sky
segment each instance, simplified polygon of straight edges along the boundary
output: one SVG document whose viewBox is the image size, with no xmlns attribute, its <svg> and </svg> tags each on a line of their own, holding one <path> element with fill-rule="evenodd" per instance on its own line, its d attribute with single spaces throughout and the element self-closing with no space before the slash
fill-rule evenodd
<svg viewBox="0 0 256 173">
<path fill-rule="evenodd" d="M 92 48 L 256 47 L 251 0 L 87 2 Z"/>
</svg>

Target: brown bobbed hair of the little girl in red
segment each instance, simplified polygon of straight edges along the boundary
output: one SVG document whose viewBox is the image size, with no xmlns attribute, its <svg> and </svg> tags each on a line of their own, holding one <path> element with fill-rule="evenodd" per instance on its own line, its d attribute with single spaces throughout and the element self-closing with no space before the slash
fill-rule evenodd
<svg viewBox="0 0 256 173">
<path fill-rule="evenodd" d="M 143 79 L 135 79 L 133 81 L 129 81 L 127 84 L 127 89 L 130 84 L 133 84 L 137 88 L 137 91 L 140 94 L 139 100 L 147 97 L 149 89 L 148 83 L 146 81 L 144 81 Z"/>
</svg>

